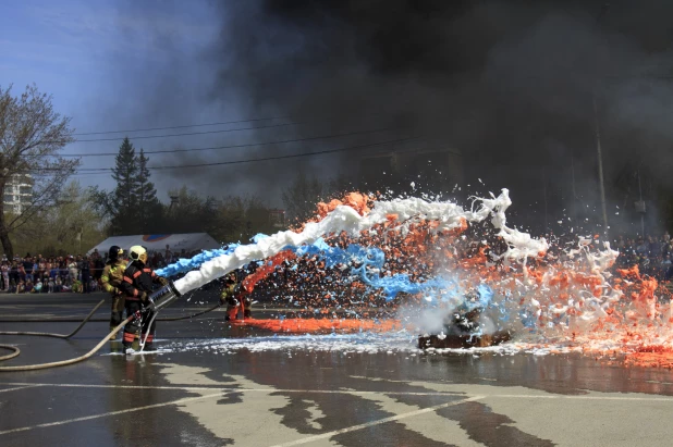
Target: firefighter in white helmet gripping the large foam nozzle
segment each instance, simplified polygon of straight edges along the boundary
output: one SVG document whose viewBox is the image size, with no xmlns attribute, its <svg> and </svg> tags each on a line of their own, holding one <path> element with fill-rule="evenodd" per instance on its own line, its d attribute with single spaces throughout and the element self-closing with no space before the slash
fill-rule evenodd
<svg viewBox="0 0 673 447">
<path fill-rule="evenodd" d="M 138 313 L 136 312 L 145 310 L 146 305 L 151 306 L 151 303 L 148 302 L 148 298 L 152 291 L 152 285 L 160 284 L 164 286 L 168 284 L 168 280 L 158 276 L 154 270 L 146 265 L 147 250 L 145 247 L 139 245 L 133 246 L 129 250 L 129 254 L 131 263 L 124 271 L 121 289 L 125 295 L 126 315 L 137 315 Z M 142 319 L 135 319 L 124 326 L 123 344 L 126 353 L 133 352 L 132 345 L 138 328 L 140 330 L 140 339 L 146 340 L 144 349 L 146 351 L 155 350 L 152 342 L 155 338 L 156 321 L 154 321 L 152 315 L 154 310 L 150 307 L 142 314 Z M 149 324 L 150 321 L 151 327 Z"/>
</svg>

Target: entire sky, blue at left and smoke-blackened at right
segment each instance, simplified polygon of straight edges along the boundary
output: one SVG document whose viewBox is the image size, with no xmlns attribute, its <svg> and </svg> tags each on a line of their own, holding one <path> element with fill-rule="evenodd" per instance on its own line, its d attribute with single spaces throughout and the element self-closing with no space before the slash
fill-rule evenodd
<svg viewBox="0 0 673 447">
<path fill-rule="evenodd" d="M 129 132 L 147 151 L 267 144 L 150 154 L 150 166 L 206 165 L 152 171 L 163 201 L 187 185 L 282 207 L 299 170 L 327 179 L 357 173 L 357 156 L 380 148 L 440 146 L 462 153 L 464 190 L 510 188 L 526 219 L 539 218 L 543 202 L 547 221 L 577 206 L 592 219 L 598 120 L 617 220 L 617 207 L 636 199 L 635 173 L 648 200 L 659 186 L 673 188 L 673 3 L 607 4 L 7 0 L 0 85 L 36 83 L 77 133 L 269 119 Z M 261 128 L 238 129 L 253 126 Z M 195 132 L 217 133 L 142 138 Z M 124 135 L 81 135 L 64 152 L 117 152 Z M 423 138 L 399 141 L 412 136 Z M 84 141 L 101 138 L 112 140 Z M 217 164 L 335 149 L 348 150 Z M 112 161 L 85 157 L 82 169 Z M 414 169 L 402 166 L 409 178 Z M 108 174 L 76 178 L 113 186 Z"/>
</svg>

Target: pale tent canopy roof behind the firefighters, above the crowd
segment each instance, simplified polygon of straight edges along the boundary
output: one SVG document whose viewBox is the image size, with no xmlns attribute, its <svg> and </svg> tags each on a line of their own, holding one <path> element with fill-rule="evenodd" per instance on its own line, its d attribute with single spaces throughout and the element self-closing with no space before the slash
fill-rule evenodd
<svg viewBox="0 0 673 447">
<path fill-rule="evenodd" d="M 212 250 L 220 248 L 222 245 L 216 241 L 208 233 L 184 233 L 184 234 L 151 234 L 151 235 L 132 235 L 132 236 L 112 236 L 108 237 L 102 243 L 93 247 L 88 253 L 98 249 L 99 253 L 106 253 L 113 245 L 129 250 L 134 245 L 142 245 L 147 248 L 147 251 L 166 251 L 166 246 L 175 253 L 180 254 L 182 250 L 185 252 L 198 250 Z"/>
</svg>

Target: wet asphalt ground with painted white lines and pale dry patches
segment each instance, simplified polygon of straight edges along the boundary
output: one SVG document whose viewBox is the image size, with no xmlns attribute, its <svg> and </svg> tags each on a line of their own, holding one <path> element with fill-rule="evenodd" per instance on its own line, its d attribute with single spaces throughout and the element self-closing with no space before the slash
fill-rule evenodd
<svg viewBox="0 0 673 447">
<path fill-rule="evenodd" d="M 102 294 L 0 296 L 0 331 L 68 333 Z M 162 312 L 206 309 L 195 294 Z M 257 315 L 268 316 L 268 310 Z M 19 358 L 77 357 L 107 333 L 106 305 L 69 340 L 0 336 Z M 0 373 L 1 446 L 669 446 L 673 373 L 604 359 L 444 353 L 399 338 L 358 351 L 321 336 L 231 327 L 223 312 L 160 322 L 158 353 L 109 343 L 75 365 Z M 365 342 L 366 344 L 367 342 Z M 0 352 L 2 355 L 3 352 Z"/>
</svg>

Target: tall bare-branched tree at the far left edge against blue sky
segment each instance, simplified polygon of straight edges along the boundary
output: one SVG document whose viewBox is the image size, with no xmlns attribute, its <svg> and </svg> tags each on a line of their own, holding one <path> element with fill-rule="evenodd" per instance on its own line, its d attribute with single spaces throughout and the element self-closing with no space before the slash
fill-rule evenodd
<svg viewBox="0 0 673 447">
<path fill-rule="evenodd" d="M 51 204 L 79 164 L 79 159 L 59 154 L 74 141 L 74 131 L 71 119 L 57 113 L 51 101 L 35 85 L 19 97 L 12 96 L 11 85 L 0 87 L 0 197 L 4 199 L 8 184 L 17 178 L 30 185 L 20 208 L 5 210 L 0 200 L 0 243 L 10 259 L 14 256 L 10 234 Z"/>
</svg>

